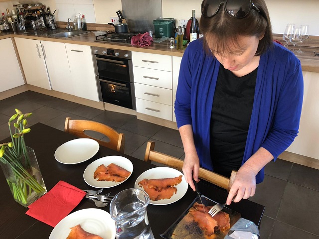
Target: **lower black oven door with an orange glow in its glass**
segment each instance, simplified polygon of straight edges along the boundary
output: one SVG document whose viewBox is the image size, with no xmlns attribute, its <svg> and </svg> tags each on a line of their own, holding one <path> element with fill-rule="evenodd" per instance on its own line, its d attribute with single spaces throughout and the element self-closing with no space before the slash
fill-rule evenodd
<svg viewBox="0 0 319 239">
<path fill-rule="evenodd" d="M 103 102 L 136 110 L 134 83 L 99 79 Z"/>
</svg>

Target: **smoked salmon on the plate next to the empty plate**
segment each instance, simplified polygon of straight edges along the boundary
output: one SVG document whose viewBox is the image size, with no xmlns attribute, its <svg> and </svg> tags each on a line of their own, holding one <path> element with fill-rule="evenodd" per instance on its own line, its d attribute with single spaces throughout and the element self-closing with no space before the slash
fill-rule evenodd
<svg viewBox="0 0 319 239">
<path fill-rule="evenodd" d="M 105 167 L 104 164 L 100 165 L 94 172 L 94 179 L 97 181 L 113 181 L 122 182 L 130 176 L 131 172 L 126 169 L 111 163 Z"/>
</svg>

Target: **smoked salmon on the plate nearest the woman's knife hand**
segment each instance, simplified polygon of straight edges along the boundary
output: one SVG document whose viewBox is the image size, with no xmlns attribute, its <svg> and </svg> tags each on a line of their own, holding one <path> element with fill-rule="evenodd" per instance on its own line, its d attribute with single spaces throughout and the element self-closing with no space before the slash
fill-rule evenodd
<svg viewBox="0 0 319 239">
<path fill-rule="evenodd" d="M 170 199 L 176 194 L 177 184 L 181 182 L 182 175 L 175 178 L 159 178 L 159 179 L 143 179 L 139 182 L 139 186 L 150 196 L 152 201 L 160 199 Z"/>
</svg>

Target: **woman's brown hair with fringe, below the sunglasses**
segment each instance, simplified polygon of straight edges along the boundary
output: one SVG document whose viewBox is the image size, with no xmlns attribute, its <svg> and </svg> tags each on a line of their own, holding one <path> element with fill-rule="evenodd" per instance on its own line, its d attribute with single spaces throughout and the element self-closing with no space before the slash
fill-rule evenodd
<svg viewBox="0 0 319 239">
<path fill-rule="evenodd" d="M 263 54 L 273 45 L 272 27 L 269 13 L 264 0 L 253 0 L 259 12 L 251 9 L 244 18 L 236 19 L 229 16 L 222 5 L 216 15 L 206 18 L 201 16 L 200 29 L 204 33 L 204 46 L 207 52 L 213 51 L 220 55 L 239 47 L 241 36 L 256 36 L 259 41 L 256 56 Z"/>
</svg>

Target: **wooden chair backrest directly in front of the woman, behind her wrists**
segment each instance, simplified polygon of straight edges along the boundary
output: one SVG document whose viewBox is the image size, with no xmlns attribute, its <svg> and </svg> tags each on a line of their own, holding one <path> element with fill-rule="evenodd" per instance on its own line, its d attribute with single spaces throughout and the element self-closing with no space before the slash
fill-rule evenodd
<svg viewBox="0 0 319 239">
<path fill-rule="evenodd" d="M 154 150 L 154 147 L 155 142 L 148 141 L 144 161 L 155 161 L 176 169 L 182 169 L 184 162 L 183 160 L 164 153 L 157 152 Z M 236 171 L 232 171 L 230 178 L 227 178 L 225 176 L 200 167 L 198 177 L 229 191 L 235 180 L 236 173 Z"/>
</svg>

